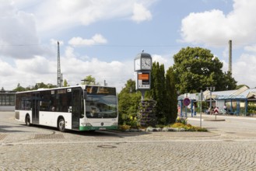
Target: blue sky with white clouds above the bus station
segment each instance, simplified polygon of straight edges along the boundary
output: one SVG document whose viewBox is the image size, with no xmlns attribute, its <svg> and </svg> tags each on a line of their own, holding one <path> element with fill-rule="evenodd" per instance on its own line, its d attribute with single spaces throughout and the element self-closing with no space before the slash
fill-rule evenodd
<svg viewBox="0 0 256 171">
<path fill-rule="evenodd" d="M 253 0 L 0 0 L 0 87 L 57 84 L 61 72 L 74 86 L 87 75 L 124 87 L 135 79 L 142 50 L 165 68 L 182 47 L 204 47 L 233 77 L 255 87 L 256 1 Z"/>
</svg>

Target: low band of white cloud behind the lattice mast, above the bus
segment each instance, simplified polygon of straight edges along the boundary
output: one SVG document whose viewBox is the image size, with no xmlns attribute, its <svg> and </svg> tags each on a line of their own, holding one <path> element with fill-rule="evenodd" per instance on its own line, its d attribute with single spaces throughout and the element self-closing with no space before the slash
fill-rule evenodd
<svg viewBox="0 0 256 171">
<path fill-rule="evenodd" d="M 61 55 L 61 73 L 63 79 L 70 86 L 80 84 L 87 75 L 93 75 L 96 82 L 103 85 L 106 80 L 108 86 L 117 87 L 120 92 L 128 79 L 133 77 L 133 61 L 100 61 L 97 58 L 83 58 L 75 54 L 72 47 L 65 48 L 65 54 Z M 15 65 L 9 65 L 0 60 L 1 87 L 6 90 L 21 86 L 34 86 L 37 82 L 57 84 L 57 61 L 43 56 L 35 56 L 33 59 L 17 59 Z"/>
</svg>

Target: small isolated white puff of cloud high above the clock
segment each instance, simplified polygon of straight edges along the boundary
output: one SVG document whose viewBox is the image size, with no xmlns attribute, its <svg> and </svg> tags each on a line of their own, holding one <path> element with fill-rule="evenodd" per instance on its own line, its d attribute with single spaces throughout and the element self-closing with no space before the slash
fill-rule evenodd
<svg viewBox="0 0 256 171">
<path fill-rule="evenodd" d="M 142 4 L 135 3 L 132 20 L 134 20 L 136 23 L 140 23 L 142 21 L 150 19 L 152 19 L 151 12 L 146 9 Z"/>
</svg>

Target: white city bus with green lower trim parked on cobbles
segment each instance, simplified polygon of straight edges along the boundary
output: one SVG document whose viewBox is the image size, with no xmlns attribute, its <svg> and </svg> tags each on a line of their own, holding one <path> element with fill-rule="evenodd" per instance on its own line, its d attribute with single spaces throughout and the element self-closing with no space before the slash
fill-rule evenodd
<svg viewBox="0 0 256 171">
<path fill-rule="evenodd" d="M 16 120 L 58 127 L 59 131 L 117 129 L 114 87 L 72 86 L 16 92 Z"/>
</svg>

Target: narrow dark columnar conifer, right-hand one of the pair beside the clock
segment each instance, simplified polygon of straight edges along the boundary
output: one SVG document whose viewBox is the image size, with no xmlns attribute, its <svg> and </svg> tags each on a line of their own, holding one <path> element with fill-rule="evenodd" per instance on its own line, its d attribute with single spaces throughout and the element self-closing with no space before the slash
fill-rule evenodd
<svg viewBox="0 0 256 171">
<path fill-rule="evenodd" d="M 177 90 L 175 89 L 174 69 L 170 67 L 166 75 L 167 123 L 174 123 L 177 118 Z"/>
</svg>

